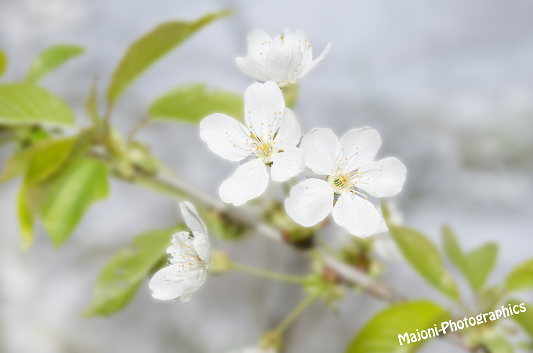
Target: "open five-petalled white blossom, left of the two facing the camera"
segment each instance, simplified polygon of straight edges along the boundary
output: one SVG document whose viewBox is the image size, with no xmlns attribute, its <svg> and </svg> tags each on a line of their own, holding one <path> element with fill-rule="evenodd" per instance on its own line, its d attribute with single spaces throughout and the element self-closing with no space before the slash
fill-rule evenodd
<svg viewBox="0 0 533 353">
<path fill-rule="evenodd" d="M 200 137 L 211 151 L 230 161 L 246 158 L 219 188 L 222 201 L 234 206 L 261 195 L 270 178 L 285 182 L 304 168 L 303 151 L 296 147 L 302 133 L 276 83 L 248 87 L 244 108 L 246 126 L 219 113 L 200 121 Z"/>
</svg>

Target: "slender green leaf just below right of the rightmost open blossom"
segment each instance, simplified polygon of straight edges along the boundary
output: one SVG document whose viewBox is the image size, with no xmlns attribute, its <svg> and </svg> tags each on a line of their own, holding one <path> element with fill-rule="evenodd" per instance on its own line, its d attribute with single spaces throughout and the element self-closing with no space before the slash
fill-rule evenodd
<svg viewBox="0 0 533 353">
<path fill-rule="evenodd" d="M 435 244 L 413 228 L 389 225 L 389 231 L 403 255 L 426 281 L 448 297 L 458 300 L 457 284 L 444 268 Z"/>
</svg>

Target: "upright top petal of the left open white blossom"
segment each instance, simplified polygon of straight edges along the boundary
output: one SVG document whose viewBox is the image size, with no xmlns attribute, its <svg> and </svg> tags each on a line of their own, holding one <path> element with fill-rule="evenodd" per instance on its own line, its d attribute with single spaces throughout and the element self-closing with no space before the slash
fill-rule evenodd
<svg viewBox="0 0 533 353">
<path fill-rule="evenodd" d="M 276 132 L 284 109 L 283 95 L 275 82 L 256 82 L 246 89 L 244 119 L 257 138 L 263 137 L 263 141 L 266 141 L 273 136 L 270 130 Z"/>
</svg>

